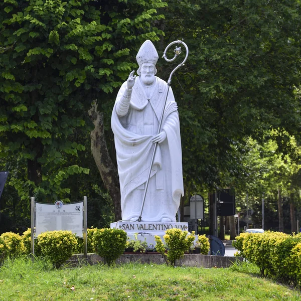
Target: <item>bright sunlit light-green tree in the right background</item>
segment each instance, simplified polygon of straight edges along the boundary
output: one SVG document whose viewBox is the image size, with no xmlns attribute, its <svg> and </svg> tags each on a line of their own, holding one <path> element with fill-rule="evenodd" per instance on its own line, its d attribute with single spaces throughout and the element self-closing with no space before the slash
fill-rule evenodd
<svg viewBox="0 0 301 301">
<path fill-rule="evenodd" d="M 290 149 L 290 152 L 285 154 L 271 138 L 274 135 L 278 136 L 278 131 L 266 132 L 262 137 L 264 143 L 249 138 L 246 145 L 240 145 L 240 149 L 237 144 L 235 149 L 242 166 L 241 177 L 231 179 L 229 173 L 223 176 L 229 185 L 235 185 L 238 200 L 244 199 L 243 195 L 248 192 L 252 207 L 261 203 L 264 195 L 265 203 L 270 202 L 267 205 L 278 211 L 278 230 L 283 232 L 283 199 L 289 199 L 291 225 L 295 223 L 294 204 L 298 204 L 300 199 L 298 184 L 301 153 L 294 137 L 283 132 L 281 136 L 287 143 L 285 148 Z M 245 207 L 245 204 L 239 205 Z M 259 214 L 261 217 L 261 208 Z"/>
</svg>

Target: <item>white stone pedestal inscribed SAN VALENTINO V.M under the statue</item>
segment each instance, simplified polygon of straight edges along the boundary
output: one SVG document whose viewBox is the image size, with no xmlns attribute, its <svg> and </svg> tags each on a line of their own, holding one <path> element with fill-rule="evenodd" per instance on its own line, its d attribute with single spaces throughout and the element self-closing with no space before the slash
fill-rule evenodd
<svg viewBox="0 0 301 301">
<path fill-rule="evenodd" d="M 155 235 L 160 236 L 164 242 L 163 236 L 166 230 L 177 228 L 188 231 L 188 223 L 118 221 L 111 223 L 111 228 L 124 230 L 129 239 L 146 240 L 148 245 L 155 246 Z"/>
</svg>

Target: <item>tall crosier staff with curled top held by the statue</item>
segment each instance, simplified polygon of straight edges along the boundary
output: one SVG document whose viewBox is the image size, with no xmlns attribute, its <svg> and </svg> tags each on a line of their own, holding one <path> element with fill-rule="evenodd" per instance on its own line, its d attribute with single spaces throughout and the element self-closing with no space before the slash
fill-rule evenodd
<svg viewBox="0 0 301 301">
<path fill-rule="evenodd" d="M 166 53 L 167 53 L 167 50 L 174 44 L 182 44 L 184 45 L 185 49 L 186 49 L 186 57 L 185 59 L 183 60 L 182 63 L 180 63 L 170 74 L 170 77 L 168 79 L 168 82 L 167 82 L 167 85 L 168 85 L 168 88 L 167 88 L 167 93 L 166 93 L 166 98 L 165 98 L 165 102 L 164 102 L 164 106 L 163 106 L 163 110 L 162 110 L 162 113 L 161 113 L 161 117 L 160 117 L 160 122 L 159 122 L 159 127 L 158 127 L 158 132 L 157 132 L 157 135 L 160 134 L 160 131 L 161 131 L 161 126 L 162 126 L 162 120 L 163 120 L 163 114 L 164 114 L 164 111 L 165 111 L 165 106 L 166 106 L 166 101 L 167 101 L 167 97 L 168 97 L 168 92 L 169 92 L 169 88 L 171 86 L 171 83 L 172 83 L 172 76 L 174 75 L 174 73 L 182 66 L 184 66 L 187 58 L 188 58 L 188 47 L 187 45 L 183 42 L 183 41 L 180 41 L 180 40 L 177 40 L 177 41 L 174 41 L 172 43 L 170 43 L 166 48 L 165 48 L 165 51 L 163 53 L 163 58 L 167 61 L 167 62 L 173 62 L 182 52 L 181 50 L 181 47 L 176 47 L 176 49 L 174 50 L 175 52 L 175 56 L 172 58 L 172 59 L 168 59 L 166 57 Z M 158 145 L 158 142 L 155 143 L 154 145 L 154 151 L 153 151 L 153 156 L 152 156 L 152 160 L 150 161 L 150 166 L 149 166 L 149 171 L 148 171 L 148 176 L 147 176 L 147 181 L 146 181 L 146 184 L 145 184 L 145 189 L 144 189 L 144 195 L 143 195 L 143 199 L 142 199 L 142 204 L 141 204 L 141 210 L 140 210 L 140 215 L 139 215 L 139 218 L 138 218 L 138 222 L 141 221 L 141 218 L 142 218 L 142 211 L 143 211 L 143 207 L 144 207 L 144 202 L 145 202 L 145 197 L 146 197 L 146 192 L 147 192 L 147 187 L 148 187 L 148 183 L 149 183 L 149 178 L 150 178 L 150 173 L 152 172 L 152 166 L 153 166 L 153 163 L 154 163 L 154 159 L 155 159 L 155 155 L 156 155 L 156 149 L 157 149 L 157 145 Z"/>
</svg>

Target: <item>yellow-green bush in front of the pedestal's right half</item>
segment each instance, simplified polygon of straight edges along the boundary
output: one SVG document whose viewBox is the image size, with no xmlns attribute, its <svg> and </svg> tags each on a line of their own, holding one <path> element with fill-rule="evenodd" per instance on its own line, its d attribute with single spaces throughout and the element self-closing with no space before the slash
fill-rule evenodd
<svg viewBox="0 0 301 301">
<path fill-rule="evenodd" d="M 185 252 L 188 252 L 195 240 L 194 231 L 188 234 L 188 231 L 182 231 L 180 229 L 169 229 L 163 236 L 168 252 L 165 253 L 166 247 L 163 244 L 160 236 L 155 236 L 156 249 L 165 258 L 167 264 L 175 265 L 177 259 L 181 259 Z"/>
</svg>

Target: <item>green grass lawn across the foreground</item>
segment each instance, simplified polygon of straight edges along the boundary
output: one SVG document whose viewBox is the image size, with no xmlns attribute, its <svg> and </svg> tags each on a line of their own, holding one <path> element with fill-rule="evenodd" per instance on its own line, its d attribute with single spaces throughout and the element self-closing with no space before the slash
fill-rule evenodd
<svg viewBox="0 0 301 301">
<path fill-rule="evenodd" d="M 126 264 L 54 270 L 45 260 L 0 267 L 0 300 L 300 300 L 297 290 L 258 277 L 254 265 L 226 269 Z"/>
</svg>

